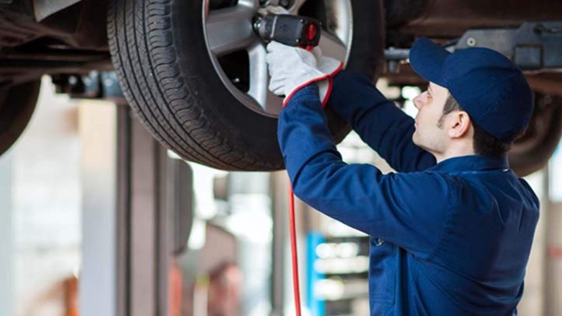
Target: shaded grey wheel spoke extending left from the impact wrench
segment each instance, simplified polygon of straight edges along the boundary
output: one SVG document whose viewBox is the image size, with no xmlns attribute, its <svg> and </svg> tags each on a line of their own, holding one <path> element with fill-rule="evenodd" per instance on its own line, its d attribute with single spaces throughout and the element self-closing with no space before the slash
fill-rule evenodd
<svg viewBox="0 0 562 316">
<path fill-rule="evenodd" d="M 211 10 L 206 18 L 207 40 L 215 56 L 251 46 L 257 40 L 252 30 L 253 6 L 240 3 L 237 6 Z"/>
</svg>

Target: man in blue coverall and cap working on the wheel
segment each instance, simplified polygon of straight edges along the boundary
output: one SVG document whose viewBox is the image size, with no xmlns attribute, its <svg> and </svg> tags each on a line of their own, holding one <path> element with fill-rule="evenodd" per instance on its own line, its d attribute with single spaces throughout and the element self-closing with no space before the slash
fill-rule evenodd
<svg viewBox="0 0 562 316">
<path fill-rule="evenodd" d="M 267 60 L 294 192 L 371 236 L 371 315 L 516 315 L 539 210 L 506 159 L 532 113 L 521 71 L 418 39 L 410 63 L 430 83 L 414 120 L 318 49 L 270 43 Z M 325 101 L 398 172 L 343 162 Z"/>
</svg>

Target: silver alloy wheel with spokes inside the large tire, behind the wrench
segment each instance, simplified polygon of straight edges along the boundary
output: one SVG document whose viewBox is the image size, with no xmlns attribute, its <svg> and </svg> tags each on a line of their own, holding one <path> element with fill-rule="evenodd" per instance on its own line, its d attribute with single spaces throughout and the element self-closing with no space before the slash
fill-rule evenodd
<svg viewBox="0 0 562 316">
<path fill-rule="evenodd" d="M 261 115 L 277 117 L 283 98 L 268 89 L 265 44 L 254 33 L 252 20 L 259 8 L 268 5 L 282 6 L 296 15 L 307 0 L 202 1 L 207 52 L 217 75 L 244 106 Z M 347 62 L 352 38 L 350 0 L 325 2 L 327 22 L 319 46 L 324 55 Z"/>
</svg>

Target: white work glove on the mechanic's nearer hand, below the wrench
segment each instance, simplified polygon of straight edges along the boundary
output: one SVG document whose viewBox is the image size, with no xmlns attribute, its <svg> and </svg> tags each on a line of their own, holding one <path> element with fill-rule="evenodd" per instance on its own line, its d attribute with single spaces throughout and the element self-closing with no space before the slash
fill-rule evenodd
<svg viewBox="0 0 562 316">
<path fill-rule="evenodd" d="M 328 74 L 316 68 L 316 57 L 306 49 L 278 42 L 269 43 L 267 49 L 269 89 L 278 96 L 285 96 L 283 106 L 300 88 L 328 78 Z"/>
</svg>

